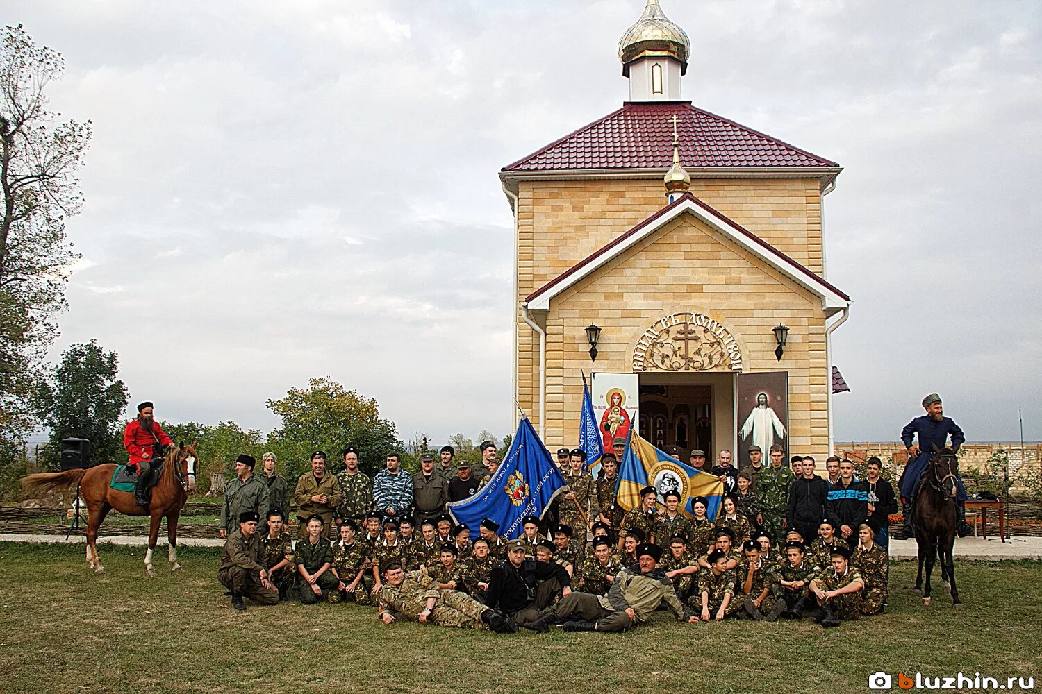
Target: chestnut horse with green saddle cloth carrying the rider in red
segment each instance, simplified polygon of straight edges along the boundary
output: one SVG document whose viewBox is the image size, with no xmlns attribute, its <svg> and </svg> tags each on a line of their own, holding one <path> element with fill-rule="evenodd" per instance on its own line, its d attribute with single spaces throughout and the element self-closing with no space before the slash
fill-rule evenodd
<svg viewBox="0 0 1042 694">
<path fill-rule="evenodd" d="M 170 540 L 171 570 L 180 570 L 177 563 L 177 518 L 195 489 L 196 442 L 191 445 L 168 446 L 159 481 L 152 487 L 152 499 L 148 506 L 138 506 L 132 491 L 118 491 L 108 486 L 116 471 L 116 463 L 95 465 L 88 469 L 66 470 L 65 472 L 41 472 L 22 478 L 22 487 L 30 496 L 41 496 L 60 489 L 79 485 L 79 494 L 86 506 L 86 563 L 97 573 L 104 573 L 105 567 L 98 558 L 98 528 L 113 509 L 127 516 L 150 516 L 148 551 L 145 552 L 145 570 L 155 576 L 152 569 L 152 550 L 159 536 L 159 522 L 167 519 L 167 537 Z"/>
</svg>

